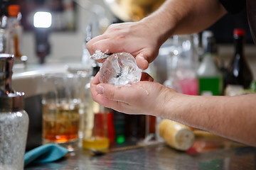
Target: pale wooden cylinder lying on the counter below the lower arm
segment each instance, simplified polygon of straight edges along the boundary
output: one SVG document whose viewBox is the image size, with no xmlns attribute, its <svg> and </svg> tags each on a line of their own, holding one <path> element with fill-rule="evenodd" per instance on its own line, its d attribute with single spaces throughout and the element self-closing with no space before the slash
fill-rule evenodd
<svg viewBox="0 0 256 170">
<path fill-rule="evenodd" d="M 170 147 L 178 150 L 187 150 L 195 142 L 191 128 L 169 119 L 161 120 L 159 134 Z"/>
</svg>

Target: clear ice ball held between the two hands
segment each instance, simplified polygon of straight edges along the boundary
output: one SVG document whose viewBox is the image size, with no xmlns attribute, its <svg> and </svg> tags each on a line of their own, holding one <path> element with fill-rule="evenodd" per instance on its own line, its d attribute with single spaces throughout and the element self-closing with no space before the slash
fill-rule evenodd
<svg viewBox="0 0 256 170">
<path fill-rule="evenodd" d="M 127 52 L 110 55 L 100 67 L 100 83 L 124 86 L 140 81 L 141 77 L 142 70 Z"/>
</svg>

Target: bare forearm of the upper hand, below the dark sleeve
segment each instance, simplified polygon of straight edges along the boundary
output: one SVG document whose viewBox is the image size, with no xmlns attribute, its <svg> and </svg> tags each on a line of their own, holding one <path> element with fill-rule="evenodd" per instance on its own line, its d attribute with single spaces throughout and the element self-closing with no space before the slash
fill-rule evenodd
<svg viewBox="0 0 256 170">
<path fill-rule="evenodd" d="M 219 0 L 167 0 L 142 22 L 165 41 L 171 35 L 198 33 L 226 13 Z"/>
</svg>

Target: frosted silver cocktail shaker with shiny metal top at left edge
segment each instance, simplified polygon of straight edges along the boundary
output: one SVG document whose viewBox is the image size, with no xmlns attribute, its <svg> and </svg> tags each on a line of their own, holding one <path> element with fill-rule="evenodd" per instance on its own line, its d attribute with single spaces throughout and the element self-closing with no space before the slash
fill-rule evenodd
<svg viewBox="0 0 256 170">
<path fill-rule="evenodd" d="M 23 93 L 11 87 L 14 56 L 0 54 L 0 169 L 23 169 L 28 114 Z"/>
</svg>

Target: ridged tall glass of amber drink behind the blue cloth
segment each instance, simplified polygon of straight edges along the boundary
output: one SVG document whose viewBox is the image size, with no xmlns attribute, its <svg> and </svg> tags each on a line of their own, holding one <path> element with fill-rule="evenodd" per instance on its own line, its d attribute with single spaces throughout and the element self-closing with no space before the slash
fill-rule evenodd
<svg viewBox="0 0 256 170">
<path fill-rule="evenodd" d="M 47 74 L 43 77 L 43 144 L 55 143 L 70 152 L 78 148 L 79 77 Z"/>
</svg>

